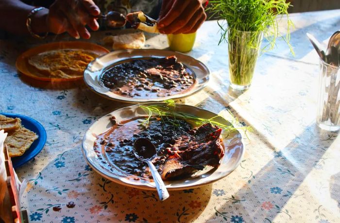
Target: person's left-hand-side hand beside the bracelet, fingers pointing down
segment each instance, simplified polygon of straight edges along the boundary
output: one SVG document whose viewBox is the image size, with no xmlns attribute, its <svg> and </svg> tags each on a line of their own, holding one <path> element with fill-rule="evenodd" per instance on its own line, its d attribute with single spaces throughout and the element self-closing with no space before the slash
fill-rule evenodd
<svg viewBox="0 0 340 223">
<path fill-rule="evenodd" d="M 98 30 L 99 25 L 94 16 L 100 13 L 93 0 L 55 0 L 47 16 L 49 32 L 68 32 L 74 38 L 88 39 L 90 33 L 85 25 L 93 31 Z"/>
</svg>

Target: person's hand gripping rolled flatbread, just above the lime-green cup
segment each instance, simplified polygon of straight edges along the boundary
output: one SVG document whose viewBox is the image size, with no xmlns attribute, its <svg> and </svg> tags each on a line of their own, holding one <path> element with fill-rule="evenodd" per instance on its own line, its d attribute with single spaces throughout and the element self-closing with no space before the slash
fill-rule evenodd
<svg viewBox="0 0 340 223">
<path fill-rule="evenodd" d="M 158 29 L 164 34 L 192 33 L 206 19 L 202 0 L 163 0 Z"/>
</svg>

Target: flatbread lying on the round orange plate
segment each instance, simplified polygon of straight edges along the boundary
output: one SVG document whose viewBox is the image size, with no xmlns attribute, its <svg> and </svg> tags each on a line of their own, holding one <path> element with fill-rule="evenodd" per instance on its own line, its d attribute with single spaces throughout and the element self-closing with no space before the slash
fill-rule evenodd
<svg viewBox="0 0 340 223">
<path fill-rule="evenodd" d="M 58 49 L 34 55 L 28 63 L 49 78 L 74 78 L 83 72 L 97 54 L 85 50 Z"/>
</svg>

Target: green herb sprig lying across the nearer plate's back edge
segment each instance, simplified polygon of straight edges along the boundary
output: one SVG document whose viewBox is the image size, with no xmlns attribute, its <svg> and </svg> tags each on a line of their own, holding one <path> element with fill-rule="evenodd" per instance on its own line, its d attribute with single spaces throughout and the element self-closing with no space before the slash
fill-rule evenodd
<svg viewBox="0 0 340 223">
<path fill-rule="evenodd" d="M 182 119 L 189 123 L 192 123 L 194 126 L 202 126 L 206 123 L 210 123 L 213 126 L 218 126 L 223 130 L 223 137 L 226 138 L 231 132 L 236 129 L 243 130 L 245 133 L 247 131 L 252 131 L 252 127 L 234 127 L 235 124 L 238 123 L 238 119 L 235 118 L 232 113 L 228 110 L 233 119 L 230 122 L 230 125 L 225 125 L 217 121 L 217 118 L 223 118 L 220 115 L 216 115 L 210 119 L 199 118 L 195 115 L 188 114 L 185 112 L 175 112 L 175 101 L 174 100 L 166 100 L 165 105 L 139 105 L 140 108 L 144 109 L 148 113 L 148 117 L 144 120 L 142 125 L 144 127 L 148 127 L 150 123 L 150 118 L 153 116 L 160 117 L 163 121 L 163 117 L 173 118 L 174 120 Z M 223 118 L 224 119 L 224 118 Z M 175 122 L 172 123 L 176 125 Z"/>
</svg>

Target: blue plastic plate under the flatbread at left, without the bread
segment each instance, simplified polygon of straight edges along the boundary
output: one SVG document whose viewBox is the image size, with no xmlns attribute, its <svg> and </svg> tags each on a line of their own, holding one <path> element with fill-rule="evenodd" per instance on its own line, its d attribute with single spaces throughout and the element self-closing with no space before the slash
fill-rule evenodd
<svg viewBox="0 0 340 223">
<path fill-rule="evenodd" d="M 37 122 L 33 118 L 21 114 L 10 114 L 2 112 L 0 112 L 0 114 L 3 114 L 10 118 L 20 118 L 23 127 L 30 129 L 39 136 L 39 138 L 32 143 L 31 147 L 26 150 L 26 152 L 22 156 L 12 158 L 13 166 L 14 168 L 17 168 L 33 159 L 43 149 L 47 138 L 46 130 L 39 122 Z"/>
</svg>

